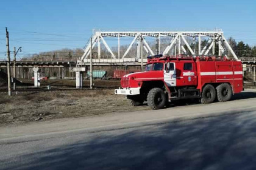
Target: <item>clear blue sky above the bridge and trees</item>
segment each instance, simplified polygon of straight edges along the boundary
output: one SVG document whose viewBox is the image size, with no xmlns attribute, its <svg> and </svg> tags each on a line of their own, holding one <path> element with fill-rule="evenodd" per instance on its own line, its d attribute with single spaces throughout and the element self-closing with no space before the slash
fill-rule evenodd
<svg viewBox="0 0 256 170">
<path fill-rule="evenodd" d="M 93 29 L 213 30 L 256 46 L 256 1 L 1 0 L 0 58 L 5 27 L 18 57 L 85 46 Z"/>
</svg>

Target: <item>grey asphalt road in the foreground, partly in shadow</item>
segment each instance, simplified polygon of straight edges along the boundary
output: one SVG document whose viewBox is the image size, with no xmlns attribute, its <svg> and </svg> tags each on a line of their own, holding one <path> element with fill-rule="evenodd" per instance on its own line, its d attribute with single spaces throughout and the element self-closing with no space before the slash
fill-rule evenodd
<svg viewBox="0 0 256 170">
<path fill-rule="evenodd" d="M 1 127 L 0 169 L 256 169 L 255 101 Z"/>
</svg>

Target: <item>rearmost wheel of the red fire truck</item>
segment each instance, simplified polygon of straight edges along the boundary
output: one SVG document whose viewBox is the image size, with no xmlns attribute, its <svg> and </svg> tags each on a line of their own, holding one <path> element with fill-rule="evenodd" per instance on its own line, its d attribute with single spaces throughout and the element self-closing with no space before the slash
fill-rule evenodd
<svg viewBox="0 0 256 170">
<path fill-rule="evenodd" d="M 227 83 L 219 84 L 216 90 L 218 101 L 228 101 L 233 95 L 232 87 Z"/>
</svg>

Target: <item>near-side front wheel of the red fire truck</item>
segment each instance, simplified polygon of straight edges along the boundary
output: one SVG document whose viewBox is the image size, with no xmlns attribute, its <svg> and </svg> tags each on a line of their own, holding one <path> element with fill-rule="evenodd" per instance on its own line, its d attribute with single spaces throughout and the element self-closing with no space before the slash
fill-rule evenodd
<svg viewBox="0 0 256 170">
<path fill-rule="evenodd" d="M 166 103 L 165 92 L 163 92 L 163 90 L 160 88 L 151 89 L 148 93 L 147 101 L 148 106 L 150 106 L 152 109 L 163 109 Z"/>
</svg>

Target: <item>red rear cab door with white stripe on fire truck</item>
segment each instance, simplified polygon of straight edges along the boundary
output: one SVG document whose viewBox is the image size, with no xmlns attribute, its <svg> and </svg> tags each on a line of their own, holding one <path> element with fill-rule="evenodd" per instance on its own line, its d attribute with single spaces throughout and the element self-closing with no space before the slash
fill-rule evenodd
<svg viewBox="0 0 256 170">
<path fill-rule="evenodd" d="M 183 86 L 196 86 L 197 74 L 195 63 L 184 63 L 183 65 Z"/>
</svg>

